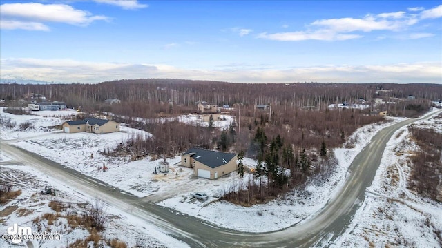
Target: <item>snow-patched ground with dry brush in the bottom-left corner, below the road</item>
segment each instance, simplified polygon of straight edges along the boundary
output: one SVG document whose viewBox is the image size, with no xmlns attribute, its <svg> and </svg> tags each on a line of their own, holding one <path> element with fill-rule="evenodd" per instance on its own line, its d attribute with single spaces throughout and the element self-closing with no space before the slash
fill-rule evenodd
<svg viewBox="0 0 442 248">
<path fill-rule="evenodd" d="M 1 155 L 2 165 L 0 180 L 8 180 L 16 186 L 13 190 L 20 189 L 21 194 L 14 200 L 1 205 L 0 207 L 0 234 L 7 234 L 7 228 L 17 223 L 19 227 L 31 227 L 32 233 L 60 234 L 59 240 L 27 240 L 23 241 L 25 247 L 68 247 L 76 240 L 86 240 L 90 232 L 86 228 L 76 227 L 75 224 L 68 223 L 69 214 L 81 215 L 84 203 L 95 204 L 94 196 L 78 192 L 77 189 L 68 187 L 46 174 L 33 169 L 27 165 L 8 165 L 10 158 Z M 41 194 L 45 186 L 56 189 L 55 196 L 50 194 Z M 59 202 L 64 207 L 62 211 L 51 209 L 49 203 Z M 100 236 L 111 242 L 119 240 L 124 242 L 127 247 L 135 245 L 148 245 L 148 247 L 188 247 L 186 244 L 171 238 L 164 234 L 157 227 L 145 223 L 130 213 L 120 211 L 112 206 L 104 205 L 104 213 L 108 216 L 104 231 Z M 44 218 L 44 214 L 59 214 L 60 216 L 50 224 L 49 218 Z M 93 242 L 89 242 L 89 246 Z M 0 247 L 17 247 L 11 241 L 0 240 Z M 108 247 L 101 242 L 99 247 Z"/>
</svg>

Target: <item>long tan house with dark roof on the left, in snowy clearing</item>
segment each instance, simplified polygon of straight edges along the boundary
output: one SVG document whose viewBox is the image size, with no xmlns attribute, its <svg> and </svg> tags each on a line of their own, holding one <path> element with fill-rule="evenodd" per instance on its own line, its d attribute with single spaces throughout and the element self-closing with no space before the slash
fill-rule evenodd
<svg viewBox="0 0 442 248">
<path fill-rule="evenodd" d="M 66 121 L 62 125 L 63 132 L 93 132 L 95 134 L 107 134 L 119 132 L 119 123 L 97 118 L 85 118 L 84 120 Z"/>
</svg>

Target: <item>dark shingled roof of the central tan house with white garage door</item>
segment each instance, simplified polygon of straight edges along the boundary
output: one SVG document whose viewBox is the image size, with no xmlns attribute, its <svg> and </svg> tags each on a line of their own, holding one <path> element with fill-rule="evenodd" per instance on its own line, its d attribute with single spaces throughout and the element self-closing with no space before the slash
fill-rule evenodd
<svg viewBox="0 0 442 248">
<path fill-rule="evenodd" d="M 184 154 L 191 154 L 191 157 L 204 165 L 207 165 L 211 168 L 220 167 L 221 165 L 225 165 L 229 163 L 236 156 L 236 154 L 226 153 L 226 152 L 218 152 L 211 151 L 200 148 L 191 148 L 188 149 Z"/>
</svg>

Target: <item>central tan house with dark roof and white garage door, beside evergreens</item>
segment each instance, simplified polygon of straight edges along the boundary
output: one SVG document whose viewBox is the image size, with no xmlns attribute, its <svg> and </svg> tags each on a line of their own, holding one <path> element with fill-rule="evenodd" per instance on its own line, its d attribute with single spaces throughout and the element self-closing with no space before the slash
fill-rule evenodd
<svg viewBox="0 0 442 248">
<path fill-rule="evenodd" d="M 191 148 L 181 156 L 181 165 L 193 168 L 193 174 L 216 179 L 238 169 L 236 154 Z"/>
</svg>

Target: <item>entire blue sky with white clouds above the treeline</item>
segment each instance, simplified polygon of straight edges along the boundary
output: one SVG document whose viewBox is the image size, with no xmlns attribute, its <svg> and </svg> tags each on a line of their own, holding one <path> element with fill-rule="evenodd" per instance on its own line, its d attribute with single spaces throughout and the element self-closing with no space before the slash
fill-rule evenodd
<svg viewBox="0 0 442 248">
<path fill-rule="evenodd" d="M 2 81 L 442 83 L 441 1 L 0 1 Z"/>
</svg>

